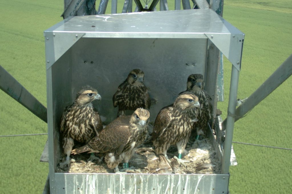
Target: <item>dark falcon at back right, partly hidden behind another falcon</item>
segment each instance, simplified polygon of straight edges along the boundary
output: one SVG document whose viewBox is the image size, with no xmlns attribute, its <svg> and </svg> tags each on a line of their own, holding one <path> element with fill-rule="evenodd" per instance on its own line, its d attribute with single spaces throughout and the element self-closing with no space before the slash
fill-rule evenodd
<svg viewBox="0 0 292 194">
<path fill-rule="evenodd" d="M 204 90 L 204 78 L 202 74 L 191 74 L 187 78 L 187 90 L 194 93 L 199 98 L 201 107 L 198 112 L 198 122 L 195 126 L 197 129 L 197 139 L 199 135 L 204 134 L 207 128 L 208 121 L 212 115 L 211 97 Z"/>
</svg>

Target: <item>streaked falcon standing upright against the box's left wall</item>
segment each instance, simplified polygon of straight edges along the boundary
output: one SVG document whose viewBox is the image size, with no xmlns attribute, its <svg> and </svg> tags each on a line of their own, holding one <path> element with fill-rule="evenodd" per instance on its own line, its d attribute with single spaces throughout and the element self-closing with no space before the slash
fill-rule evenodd
<svg viewBox="0 0 292 194">
<path fill-rule="evenodd" d="M 61 118 L 60 131 L 63 135 L 64 154 L 67 157 L 64 163 L 60 163 L 60 167 L 69 166 L 69 156 L 74 146 L 74 140 L 88 143 L 102 130 L 100 116 L 91 103 L 96 99 L 101 100 L 98 91 L 91 86 L 84 86 L 77 92 L 73 104 L 65 108 Z M 94 159 L 94 156 L 91 156 L 90 159 Z"/>
</svg>

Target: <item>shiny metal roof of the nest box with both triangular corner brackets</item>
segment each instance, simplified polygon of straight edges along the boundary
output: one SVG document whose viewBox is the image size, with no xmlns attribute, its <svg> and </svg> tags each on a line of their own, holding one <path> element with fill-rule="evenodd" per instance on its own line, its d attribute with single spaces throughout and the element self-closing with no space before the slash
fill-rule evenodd
<svg viewBox="0 0 292 194">
<path fill-rule="evenodd" d="M 53 33 L 55 38 L 49 37 Z M 46 54 L 46 60 L 57 60 L 82 35 L 88 38 L 209 38 L 237 69 L 244 39 L 241 31 L 211 9 L 80 16 L 65 19 L 45 31 L 45 37 L 49 38 L 46 42 L 55 47 L 55 56 Z"/>
</svg>

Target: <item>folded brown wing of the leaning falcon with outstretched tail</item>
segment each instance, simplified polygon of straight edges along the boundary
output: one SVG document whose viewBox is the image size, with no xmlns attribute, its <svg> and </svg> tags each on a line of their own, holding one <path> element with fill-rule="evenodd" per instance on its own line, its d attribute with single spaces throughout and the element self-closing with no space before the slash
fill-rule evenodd
<svg viewBox="0 0 292 194">
<path fill-rule="evenodd" d="M 89 142 L 89 145 L 92 149 L 102 153 L 115 152 L 115 154 L 119 154 L 123 151 L 130 137 L 129 125 L 112 124 L 105 127 L 98 136 Z"/>
</svg>

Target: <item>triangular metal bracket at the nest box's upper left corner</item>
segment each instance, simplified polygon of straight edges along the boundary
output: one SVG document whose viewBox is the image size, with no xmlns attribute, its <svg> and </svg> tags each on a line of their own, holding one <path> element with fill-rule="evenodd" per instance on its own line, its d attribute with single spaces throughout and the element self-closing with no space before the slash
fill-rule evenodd
<svg viewBox="0 0 292 194">
<path fill-rule="evenodd" d="M 46 69 L 48 70 L 69 48 L 72 47 L 85 33 L 45 32 Z M 62 44 L 60 44 L 62 42 Z"/>
</svg>

